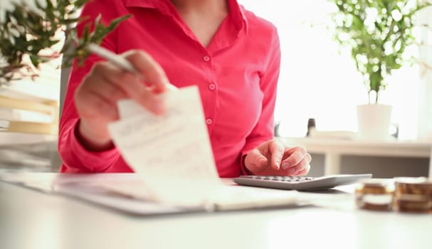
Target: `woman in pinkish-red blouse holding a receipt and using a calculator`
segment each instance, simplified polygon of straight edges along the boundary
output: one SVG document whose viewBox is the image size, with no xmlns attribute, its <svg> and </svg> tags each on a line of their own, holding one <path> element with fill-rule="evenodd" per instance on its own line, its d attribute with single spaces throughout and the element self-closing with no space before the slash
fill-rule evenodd
<svg viewBox="0 0 432 249">
<path fill-rule="evenodd" d="M 280 68 L 273 24 L 236 0 L 93 0 L 82 12 L 86 20 L 99 14 L 105 23 L 132 14 L 102 46 L 154 87 L 95 55 L 74 65 L 60 120 L 60 171 L 131 172 L 107 132 L 116 102 L 132 98 L 162 114 L 159 94 L 170 82 L 199 87 L 219 176 L 307 174 L 310 154 L 273 139 Z"/>
</svg>

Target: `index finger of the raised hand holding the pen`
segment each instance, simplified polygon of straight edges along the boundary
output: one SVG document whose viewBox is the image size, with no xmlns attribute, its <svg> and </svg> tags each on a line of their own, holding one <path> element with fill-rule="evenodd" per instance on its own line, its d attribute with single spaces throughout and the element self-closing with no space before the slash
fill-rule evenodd
<svg viewBox="0 0 432 249">
<path fill-rule="evenodd" d="M 145 83 L 152 87 L 155 93 L 164 92 L 169 84 L 167 75 L 162 67 L 144 51 L 128 51 L 123 54 L 132 63 Z"/>
</svg>

